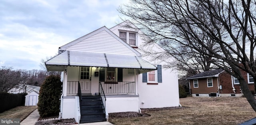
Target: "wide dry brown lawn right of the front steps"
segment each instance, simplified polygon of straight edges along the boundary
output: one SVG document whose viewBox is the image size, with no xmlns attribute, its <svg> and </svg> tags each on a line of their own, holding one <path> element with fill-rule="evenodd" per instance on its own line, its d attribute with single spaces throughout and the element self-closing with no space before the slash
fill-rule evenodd
<svg viewBox="0 0 256 125">
<path fill-rule="evenodd" d="M 115 125 L 238 125 L 256 117 L 244 97 L 187 97 L 183 109 L 145 111 L 149 117 L 110 118 Z"/>
</svg>

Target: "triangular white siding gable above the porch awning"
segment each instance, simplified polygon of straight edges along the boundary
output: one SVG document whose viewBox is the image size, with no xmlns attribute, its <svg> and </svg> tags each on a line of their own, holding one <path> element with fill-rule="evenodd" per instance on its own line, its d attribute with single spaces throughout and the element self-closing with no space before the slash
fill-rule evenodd
<svg viewBox="0 0 256 125">
<path fill-rule="evenodd" d="M 136 55 L 105 30 L 67 48 L 70 51 L 83 51 L 107 54 Z"/>
</svg>

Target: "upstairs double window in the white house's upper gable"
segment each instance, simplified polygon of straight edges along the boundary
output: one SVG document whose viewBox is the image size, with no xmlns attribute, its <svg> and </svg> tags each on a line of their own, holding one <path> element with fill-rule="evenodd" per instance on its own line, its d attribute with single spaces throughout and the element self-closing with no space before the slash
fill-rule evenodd
<svg viewBox="0 0 256 125">
<path fill-rule="evenodd" d="M 137 46 L 137 34 L 135 32 L 120 31 L 119 37 L 130 46 Z"/>
</svg>

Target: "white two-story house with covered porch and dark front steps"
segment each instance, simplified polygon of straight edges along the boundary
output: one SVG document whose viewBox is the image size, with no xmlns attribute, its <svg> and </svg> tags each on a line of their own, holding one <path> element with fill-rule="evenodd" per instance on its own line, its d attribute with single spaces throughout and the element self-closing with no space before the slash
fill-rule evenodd
<svg viewBox="0 0 256 125">
<path fill-rule="evenodd" d="M 45 62 L 48 71 L 63 71 L 62 118 L 88 123 L 106 121 L 108 113 L 179 106 L 176 71 L 142 57 L 141 34 L 128 20 L 104 26 L 61 46 Z M 157 44 L 150 48 L 163 51 Z"/>
</svg>

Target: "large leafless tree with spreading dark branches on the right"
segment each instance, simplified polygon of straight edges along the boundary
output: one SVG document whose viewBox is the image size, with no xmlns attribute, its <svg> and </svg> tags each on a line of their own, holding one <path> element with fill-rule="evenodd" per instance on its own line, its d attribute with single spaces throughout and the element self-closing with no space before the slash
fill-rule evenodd
<svg viewBox="0 0 256 125">
<path fill-rule="evenodd" d="M 255 0 L 131 0 L 119 11 L 150 37 L 145 44 L 156 42 L 174 58 L 176 53 L 182 56 L 175 61 L 210 63 L 236 77 L 256 111 L 256 100 L 241 74 L 246 71 L 256 81 L 255 7 Z"/>
</svg>

